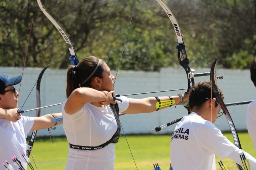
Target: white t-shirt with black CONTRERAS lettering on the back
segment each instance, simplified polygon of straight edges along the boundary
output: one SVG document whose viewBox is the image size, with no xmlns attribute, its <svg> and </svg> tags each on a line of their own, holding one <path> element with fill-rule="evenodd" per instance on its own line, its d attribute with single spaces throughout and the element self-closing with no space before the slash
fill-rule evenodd
<svg viewBox="0 0 256 170">
<path fill-rule="evenodd" d="M 221 131 L 196 113 L 184 116 L 171 139 L 171 164 L 174 170 L 216 170 L 215 155 L 224 159 L 235 149 Z"/>
</svg>

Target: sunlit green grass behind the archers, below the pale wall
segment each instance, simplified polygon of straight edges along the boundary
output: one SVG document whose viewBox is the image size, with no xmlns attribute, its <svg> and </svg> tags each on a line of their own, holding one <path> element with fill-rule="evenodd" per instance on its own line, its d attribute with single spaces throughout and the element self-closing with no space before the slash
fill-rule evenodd
<svg viewBox="0 0 256 170">
<path fill-rule="evenodd" d="M 231 133 L 224 133 L 224 135 L 233 141 Z M 171 135 L 127 135 L 138 169 L 153 169 L 152 161 L 157 160 L 161 169 L 167 170 L 170 163 L 170 139 Z M 248 133 L 239 133 L 239 139 L 242 148 L 253 157 L 256 157 L 256 151 Z M 63 170 L 65 168 L 68 155 L 66 137 L 53 137 L 53 141 L 54 143 L 52 144 L 49 138 L 37 137 L 32 155 L 38 170 Z M 216 158 L 216 160 L 218 159 Z M 33 162 L 31 156 L 30 160 Z M 237 169 L 236 164 L 230 159 L 226 158 L 222 161 L 229 170 Z M 115 169 L 136 170 L 124 136 L 121 136 L 116 144 Z M 217 169 L 219 169 L 218 166 Z"/>
</svg>

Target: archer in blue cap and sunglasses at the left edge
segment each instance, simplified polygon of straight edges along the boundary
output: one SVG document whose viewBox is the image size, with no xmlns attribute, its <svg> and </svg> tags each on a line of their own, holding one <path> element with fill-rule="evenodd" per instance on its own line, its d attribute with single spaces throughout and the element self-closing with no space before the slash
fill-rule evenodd
<svg viewBox="0 0 256 170">
<path fill-rule="evenodd" d="M 21 82 L 22 76 L 9 78 L 0 73 L 0 161 L 7 160 L 10 164 L 14 155 L 21 160 L 26 169 L 27 163 L 21 152 L 26 153 L 26 137 L 29 131 L 50 128 L 56 125 L 53 119 L 62 117 L 62 113 L 48 114 L 41 117 L 27 117 L 18 113 L 19 93 L 14 85 Z M 61 124 L 62 122 L 58 122 Z M 16 166 L 13 166 L 16 168 Z"/>
</svg>

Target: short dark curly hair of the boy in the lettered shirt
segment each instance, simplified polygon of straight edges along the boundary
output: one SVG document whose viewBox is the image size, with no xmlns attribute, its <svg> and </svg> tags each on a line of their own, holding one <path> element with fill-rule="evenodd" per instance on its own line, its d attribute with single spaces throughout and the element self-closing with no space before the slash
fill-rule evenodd
<svg viewBox="0 0 256 170">
<path fill-rule="evenodd" d="M 217 87 L 222 100 L 224 99 L 222 90 Z M 212 92 L 212 98 L 216 98 Z M 189 90 L 189 107 L 192 110 L 194 106 L 202 106 L 208 99 L 211 99 L 211 82 L 202 81 L 196 83 Z M 216 104 L 217 105 L 217 104 Z"/>
</svg>

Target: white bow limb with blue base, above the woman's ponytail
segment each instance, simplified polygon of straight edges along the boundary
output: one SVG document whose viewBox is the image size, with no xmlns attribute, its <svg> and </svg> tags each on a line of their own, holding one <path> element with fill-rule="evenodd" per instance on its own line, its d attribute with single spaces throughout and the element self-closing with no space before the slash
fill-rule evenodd
<svg viewBox="0 0 256 170">
<path fill-rule="evenodd" d="M 52 22 L 52 24 L 57 28 L 57 30 L 60 32 L 61 36 L 65 40 L 65 42 L 67 44 L 67 47 L 69 49 L 70 55 L 71 55 L 69 57 L 69 59 L 71 60 L 72 65 L 77 65 L 79 63 L 79 60 L 76 56 L 75 48 L 72 45 L 72 43 L 71 43 L 70 39 L 68 38 L 67 34 L 62 29 L 62 27 L 57 23 L 57 21 L 46 11 L 46 9 L 44 8 L 41 0 L 37 0 L 37 3 L 39 5 L 39 8 L 41 9 L 41 11 L 44 13 L 44 15 Z"/>
</svg>

